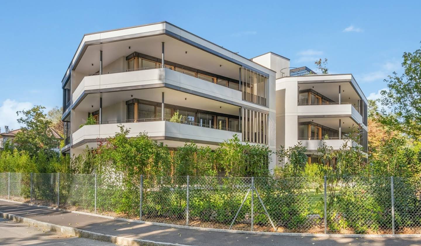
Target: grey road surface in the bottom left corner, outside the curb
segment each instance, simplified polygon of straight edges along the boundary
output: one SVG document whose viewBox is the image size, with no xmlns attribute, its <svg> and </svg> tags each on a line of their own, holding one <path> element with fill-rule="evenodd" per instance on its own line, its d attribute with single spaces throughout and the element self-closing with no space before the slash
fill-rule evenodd
<svg viewBox="0 0 421 246">
<path fill-rule="evenodd" d="M 114 245 L 85 238 L 70 237 L 62 233 L 38 229 L 19 222 L 0 219 L 0 245 Z"/>
</svg>

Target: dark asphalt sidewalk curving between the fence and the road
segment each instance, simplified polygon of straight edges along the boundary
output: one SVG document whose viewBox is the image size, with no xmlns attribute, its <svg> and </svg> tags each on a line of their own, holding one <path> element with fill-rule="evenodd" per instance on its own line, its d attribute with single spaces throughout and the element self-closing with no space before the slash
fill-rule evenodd
<svg viewBox="0 0 421 246">
<path fill-rule="evenodd" d="M 214 232 L 112 220 L 0 200 L 0 212 L 94 233 L 184 245 L 418 245 L 420 238 L 331 238 Z M 1 245 L 0 239 L 0 245 Z"/>
</svg>

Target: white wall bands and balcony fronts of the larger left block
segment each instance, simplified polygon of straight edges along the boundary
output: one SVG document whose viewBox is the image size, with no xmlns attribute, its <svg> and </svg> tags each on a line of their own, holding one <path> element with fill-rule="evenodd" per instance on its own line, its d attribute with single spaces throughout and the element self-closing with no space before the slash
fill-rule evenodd
<svg viewBox="0 0 421 246">
<path fill-rule="evenodd" d="M 224 103 L 230 103 L 235 106 L 251 108 L 255 111 L 261 111 L 264 113 L 269 112 L 268 121 L 268 133 L 269 133 L 269 148 L 272 151 L 276 151 L 276 94 L 275 94 L 275 78 L 276 73 L 267 69 L 265 66 L 251 61 L 247 58 L 239 56 L 238 54 L 232 53 L 218 45 L 215 45 L 207 40 L 195 36 L 177 26 L 169 24 L 167 22 L 149 24 L 144 26 L 136 26 L 127 29 L 112 30 L 100 33 L 86 34 L 83 37 L 81 44 L 79 45 L 75 56 L 72 58 L 71 68 L 74 68 L 76 61 L 79 56 L 83 56 L 88 45 L 99 45 L 102 42 L 118 42 L 119 40 L 127 40 L 136 37 L 142 37 L 144 33 L 163 33 L 162 31 L 168 30 L 180 37 L 189 40 L 191 44 L 198 44 L 200 48 L 205 48 L 214 53 L 217 56 L 224 57 L 226 60 L 230 60 L 233 63 L 239 64 L 240 66 L 248 66 L 251 69 L 262 72 L 269 75 L 269 95 L 268 105 L 269 107 L 260 106 L 254 103 L 249 103 L 242 100 L 242 93 L 238 90 L 233 90 L 228 87 L 216 85 L 202 79 L 191 77 L 187 74 L 182 74 L 177 71 L 170 69 L 150 69 L 144 71 L 131 71 L 122 73 L 111 73 L 115 71 L 125 71 L 127 62 L 125 56 L 121 56 L 117 60 L 109 63 L 103 67 L 102 75 L 87 76 L 87 74 L 80 74 L 76 71 L 72 71 L 71 75 L 71 92 L 72 92 L 72 109 L 70 113 L 71 120 L 71 133 L 72 133 L 72 145 L 83 140 L 92 140 L 96 138 L 107 138 L 115 134 L 118 131 L 117 124 L 101 124 L 93 126 L 84 126 L 79 129 L 80 124 L 86 122 L 88 112 L 80 111 L 77 109 L 77 100 L 82 98 L 82 95 L 88 90 L 95 90 L 93 93 L 107 93 L 111 91 L 126 91 L 134 90 L 133 87 L 139 87 L 147 85 L 153 87 L 162 87 L 163 84 L 169 85 L 168 87 L 183 92 L 192 93 L 212 100 L 221 101 Z M 107 54 L 107 50 L 104 50 L 104 55 Z M 98 54 L 99 62 L 99 54 Z M 289 64 L 289 62 L 288 62 Z M 90 65 L 90 64 L 89 64 Z M 98 64 L 94 63 L 94 66 Z M 284 66 L 284 65 L 282 65 Z M 99 68 L 98 68 L 99 70 Z M 279 69 L 278 69 L 279 70 Z M 109 73 L 110 72 L 110 73 Z M 151 86 L 152 85 L 152 86 Z M 106 91 L 105 91 L 106 90 Z M 140 98 L 141 99 L 141 98 Z M 180 100 L 182 100 L 181 98 Z M 82 99 L 83 100 L 83 99 Z M 192 105 L 194 108 L 194 105 Z M 125 102 L 116 103 L 112 106 L 103 108 L 103 121 L 123 121 L 126 119 L 126 108 Z M 238 134 L 236 132 L 229 132 L 223 130 L 209 129 L 205 127 L 196 127 L 186 124 L 178 124 L 172 122 L 137 122 L 137 123 L 125 123 L 127 127 L 132 128 L 132 132 L 149 132 L 150 135 L 165 136 L 170 138 L 182 138 L 187 140 L 200 140 L 202 142 L 213 142 L 220 143 L 226 139 L 232 138 L 232 135 Z M 136 133 L 136 135 L 137 135 Z M 239 134 L 241 135 L 241 134 Z M 241 138 L 241 136 L 240 136 Z M 83 142 L 85 143 L 85 142 Z M 180 142 L 182 145 L 184 142 Z M 71 154 L 79 154 L 83 151 L 83 148 L 70 148 Z M 273 169 L 274 163 L 276 162 L 275 156 L 272 157 L 272 163 L 269 165 L 269 169 Z"/>
</svg>

